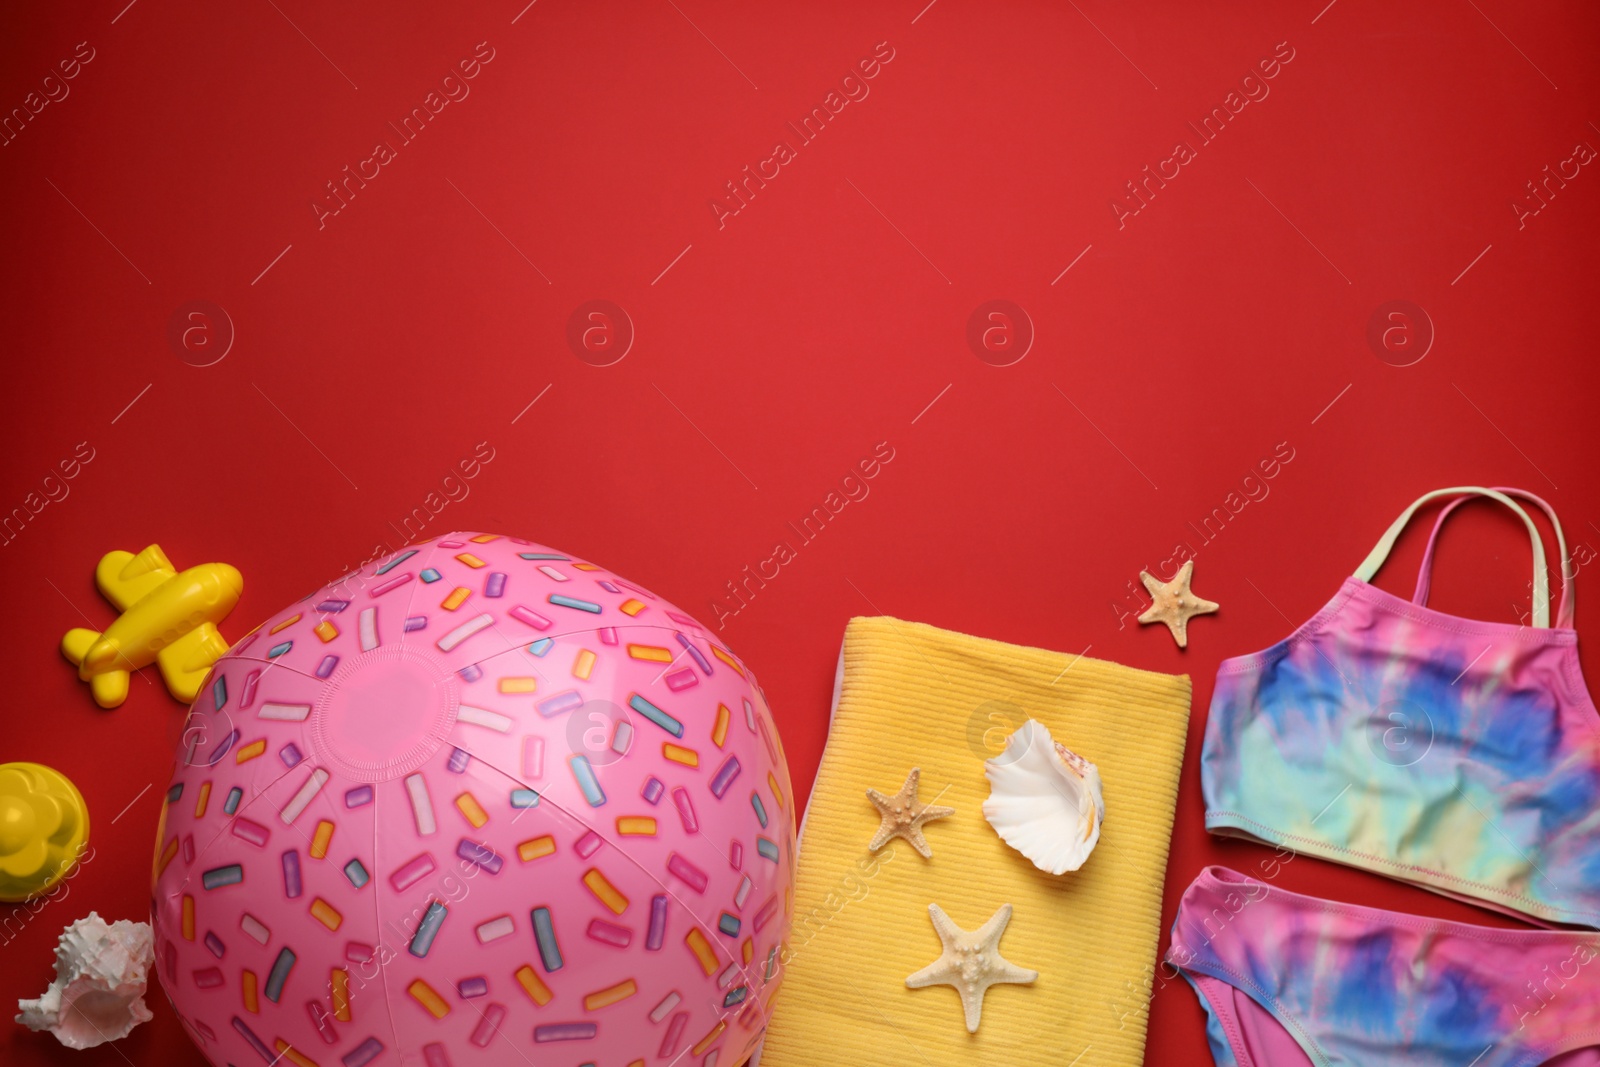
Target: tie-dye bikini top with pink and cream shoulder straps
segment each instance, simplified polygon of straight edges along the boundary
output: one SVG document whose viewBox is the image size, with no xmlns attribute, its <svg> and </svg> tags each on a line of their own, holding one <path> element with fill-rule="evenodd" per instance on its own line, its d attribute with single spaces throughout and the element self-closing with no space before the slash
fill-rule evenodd
<svg viewBox="0 0 1600 1067">
<path fill-rule="evenodd" d="M 1512 496 L 1550 517 L 1544 545 Z M 1416 510 L 1453 498 L 1416 593 L 1368 579 Z M 1427 606 L 1434 545 L 1461 504 L 1510 507 L 1533 544 L 1528 625 Z M 1541 925 L 1600 928 L 1600 713 L 1584 688 L 1555 512 L 1522 490 L 1418 499 L 1314 619 L 1218 672 L 1202 755 L 1206 829 L 1363 867 Z"/>
</svg>

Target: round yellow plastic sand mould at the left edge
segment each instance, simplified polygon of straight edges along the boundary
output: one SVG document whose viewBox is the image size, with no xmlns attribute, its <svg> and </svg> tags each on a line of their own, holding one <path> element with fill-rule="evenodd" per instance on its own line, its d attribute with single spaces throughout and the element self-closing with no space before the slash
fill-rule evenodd
<svg viewBox="0 0 1600 1067">
<path fill-rule="evenodd" d="M 0 901 L 48 893 L 90 840 L 83 793 L 43 763 L 0 763 Z"/>
</svg>

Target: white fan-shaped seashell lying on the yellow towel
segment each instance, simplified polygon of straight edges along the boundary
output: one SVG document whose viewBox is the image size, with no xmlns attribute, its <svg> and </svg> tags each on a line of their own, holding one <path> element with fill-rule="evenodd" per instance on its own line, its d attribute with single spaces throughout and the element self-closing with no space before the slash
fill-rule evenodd
<svg viewBox="0 0 1600 1067">
<path fill-rule="evenodd" d="M 984 817 L 1000 838 L 1053 875 L 1077 870 L 1099 843 L 1106 821 L 1099 769 L 1056 744 L 1030 718 L 984 761 Z"/>
</svg>

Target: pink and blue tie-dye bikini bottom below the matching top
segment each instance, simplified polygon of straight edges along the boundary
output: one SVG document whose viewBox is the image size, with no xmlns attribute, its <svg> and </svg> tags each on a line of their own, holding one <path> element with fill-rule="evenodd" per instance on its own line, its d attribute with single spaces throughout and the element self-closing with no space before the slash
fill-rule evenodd
<svg viewBox="0 0 1600 1067">
<path fill-rule="evenodd" d="M 1600 1067 L 1600 933 L 1338 904 L 1206 867 L 1166 960 L 1218 1067 Z"/>
</svg>

